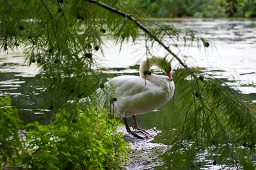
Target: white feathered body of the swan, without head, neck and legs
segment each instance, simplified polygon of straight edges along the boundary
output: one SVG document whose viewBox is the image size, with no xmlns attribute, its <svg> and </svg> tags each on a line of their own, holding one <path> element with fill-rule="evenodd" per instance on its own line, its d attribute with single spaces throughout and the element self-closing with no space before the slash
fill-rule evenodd
<svg viewBox="0 0 256 170">
<path fill-rule="evenodd" d="M 122 75 L 108 81 L 105 86 L 117 100 L 113 102 L 112 112 L 116 116 L 129 118 L 134 114 L 150 112 L 172 98 L 174 83 L 167 76 L 154 75 L 148 81 L 134 75 Z M 114 92 L 114 93 L 113 93 Z"/>
</svg>

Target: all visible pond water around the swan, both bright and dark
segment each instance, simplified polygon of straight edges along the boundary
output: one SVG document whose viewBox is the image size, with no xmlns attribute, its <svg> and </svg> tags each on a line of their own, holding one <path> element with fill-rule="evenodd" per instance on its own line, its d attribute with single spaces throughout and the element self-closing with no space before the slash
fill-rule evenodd
<svg viewBox="0 0 256 170">
<path fill-rule="evenodd" d="M 182 54 L 187 56 L 186 63 L 191 66 L 200 66 L 230 80 L 230 86 L 239 91 L 240 97 L 248 102 L 256 102 L 256 20 L 204 20 L 204 19 L 175 19 L 161 20 L 167 24 L 182 29 L 195 30 L 196 36 L 210 40 L 208 49 L 180 47 Z M 125 43 L 122 51 L 118 45 L 106 40 L 104 45 L 105 57 L 99 58 L 99 63 L 109 68 L 109 72 L 116 75 L 138 75 L 134 65 L 145 59 L 145 42 Z M 166 52 L 156 47 L 158 56 Z M 173 67 L 177 68 L 179 65 Z M 135 67 L 138 68 L 138 67 Z M 175 69 L 174 69 L 175 70 Z M 218 72 L 216 72 L 218 70 Z M 0 96 L 10 95 L 13 105 L 20 111 L 20 117 L 25 123 L 40 121 L 45 123 L 51 116 L 49 108 L 42 108 L 42 88 L 36 84 L 36 65 L 26 66 L 22 58 L 22 49 L 17 52 L 0 54 Z M 236 82 L 234 82 L 235 80 Z M 175 80 L 174 80 L 175 81 Z M 171 102 L 171 101 L 170 101 Z M 170 130 L 172 130 L 171 103 L 168 102 L 157 111 L 139 115 L 138 122 L 141 128 L 156 127 L 161 130 L 152 143 L 170 144 Z M 172 164 L 168 159 L 168 151 L 154 157 L 153 160 L 140 165 L 140 169 L 168 169 Z M 134 168 L 134 167 L 133 167 Z M 211 169 L 218 169 L 211 166 Z"/>
</svg>

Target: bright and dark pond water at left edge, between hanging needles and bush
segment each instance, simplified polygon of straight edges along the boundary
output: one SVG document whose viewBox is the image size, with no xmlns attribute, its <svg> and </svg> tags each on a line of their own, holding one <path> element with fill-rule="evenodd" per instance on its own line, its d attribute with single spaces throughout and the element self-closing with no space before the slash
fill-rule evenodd
<svg viewBox="0 0 256 170">
<path fill-rule="evenodd" d="M 38 68 L 26 66 L 20 52 L 1 54 L 0 96 L 9 95 L 12 98 L 12 104 L 19 109 L 24 123 L 46 123 L 52 114 L 48 109 L 42 109 L 42 88 L 37 84 L 36 73 Z"/>
</svg>

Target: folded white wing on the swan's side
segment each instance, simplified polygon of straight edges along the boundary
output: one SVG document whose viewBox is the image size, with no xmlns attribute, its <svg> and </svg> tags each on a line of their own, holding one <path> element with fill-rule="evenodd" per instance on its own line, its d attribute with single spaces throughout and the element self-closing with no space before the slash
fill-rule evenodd
<svg viewBox="0 0 256 170">
<path fill-rule="evenodd" d="M 115 77 L 105 87 L 106 93 L 117 99 L 113 102 L 114 112 L 124 117 L 152 111 L 162 105 L 166 98 L 163 89 L 138 76 Z"/>
</svg>

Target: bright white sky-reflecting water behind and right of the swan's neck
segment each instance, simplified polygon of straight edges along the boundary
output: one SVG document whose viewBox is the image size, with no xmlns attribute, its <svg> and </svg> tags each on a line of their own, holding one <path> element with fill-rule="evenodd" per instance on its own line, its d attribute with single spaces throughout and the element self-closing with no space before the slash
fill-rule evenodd
<svg viewBox="0 0 256 170">
<path fill-rule="evenodd" d="M 187 65 L 207 70 L 223 70 L 225 72 L 221 72 L 220 76 L 230 81 L 239 81 L 240 84 L 230 85 L 236 86 L 241 93 L 256 93 L 256 20 L 179 19 L 162 22 L 184 30 L 192 29 L 196 36 L 210 40 L 208 49 L 201 47 L 198 50 L 196 43 L 189 48 L 180 47 L 180 52 L 187 57 Z M 139 40 L 136 45 L 123 45 L 121 52 L 120 46 L 112 44 L 106 42 L 107 57 L 101 61 L 106 67 L 127 68 L 145 59 L 144 40 Z M 153 54 L 157 56 L 167 54 L 163 47 L 155 46 L 153 50 Z M 171 50 L 178 52 L 172 47 Z M 174 60 L 173 65 L 175 63 L 177 62 Z"/>
</svg>

